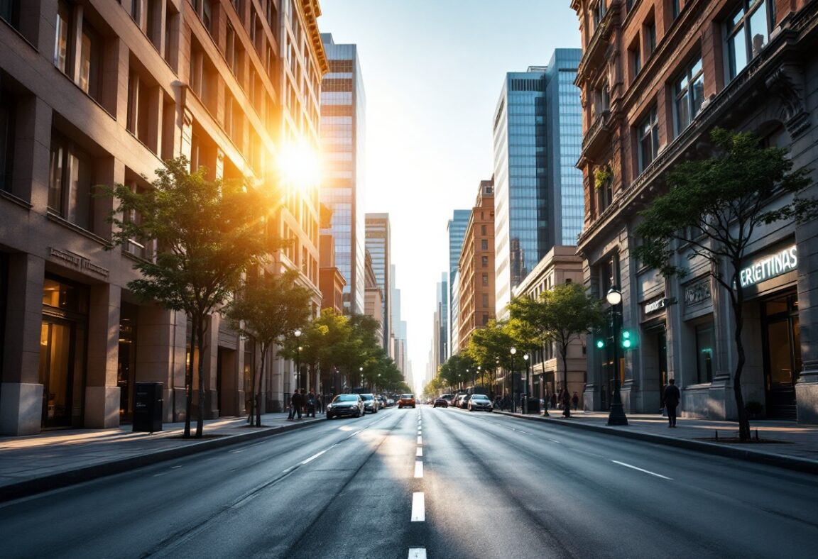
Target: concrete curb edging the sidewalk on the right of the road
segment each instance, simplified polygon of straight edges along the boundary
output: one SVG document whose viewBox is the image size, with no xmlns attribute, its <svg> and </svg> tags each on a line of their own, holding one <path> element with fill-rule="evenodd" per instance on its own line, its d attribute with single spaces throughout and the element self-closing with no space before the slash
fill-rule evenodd
<svg viewBox="0 0 818 559">
<path fill-rule="evenodd" d="M 716 454 L 717 456 L 723 456 L 726 458 L 738 458 L 739 460 L 766 464 L 767 466 L 782 467 L 795 472 L 803 472 L 813 475 L 818 474 L 818 460 L 810 460 L 809 458 L 798 458 L 795 456 L 786 456 L 784 454 L 757 452 L 756 450 L 736 448 L 727 445 L 717 445 L 715 443 L 704 442 L 703 440 L 678 439 L 672 436 L 627 431 L 627 427 L 591 425 L 589 423 L 574 422 L 572 419 L 561 417 L 545 418 L 539 415 L 511 414 L 510 412 L 500 411 L 498 409 L 495 409 L 494 411 L 497 414 L 508 415 L 513 418 L 525 419 L 527 421 L 541 421 L 548 423 L 549 425 L 560 425 L 562 427 L 573 427 L 577 429 L 585 429 L 586 431 L 607 433 L 609 435 L 623 436 L 628 439 L 645 440 L 646 442 L 652 442 L 658 445 L 675 446 L 677 448 L 694 450 L 696 452 Z"/>
</svg>

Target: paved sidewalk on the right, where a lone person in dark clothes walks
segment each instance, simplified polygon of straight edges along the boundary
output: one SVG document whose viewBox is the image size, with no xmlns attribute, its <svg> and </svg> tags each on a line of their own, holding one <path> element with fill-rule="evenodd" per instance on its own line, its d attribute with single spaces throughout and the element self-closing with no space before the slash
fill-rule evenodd
<svg viewBox="0 0 818 559">
<path fill-rule="evenodd" d="M 738 443 L 735 442 L 739 436 L 738 423 L 730 421 L 679 418 L 676 428 L 670 429 L 667 427 L 667 418 L 659 414 L 628 414 L 627 425 L 608 426 L 607 412 L 572 411 L 570 418 L 564 418 L 560 409 L 550 409 L 550 417 L 511 414 L 497 409 L 494 411 L 552 425 L 605 432 L 613 436 L 818 474 L 818 425 L 800 425 L 774 419 L 751 420 L 753 439 L 757 435 L 761 442 Z"/>
</svg>

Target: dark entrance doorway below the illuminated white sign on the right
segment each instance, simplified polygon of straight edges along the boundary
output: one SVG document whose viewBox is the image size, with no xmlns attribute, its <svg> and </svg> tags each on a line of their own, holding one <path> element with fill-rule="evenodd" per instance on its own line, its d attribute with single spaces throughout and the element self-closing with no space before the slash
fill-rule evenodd
<svg viewBox="0 0 818 559">
<path fill-rule="evenodd" d="M 762 302 L 767 417 L 795 419 L 795 383 L 802 369 L 798 297 Z"/>
</svg>

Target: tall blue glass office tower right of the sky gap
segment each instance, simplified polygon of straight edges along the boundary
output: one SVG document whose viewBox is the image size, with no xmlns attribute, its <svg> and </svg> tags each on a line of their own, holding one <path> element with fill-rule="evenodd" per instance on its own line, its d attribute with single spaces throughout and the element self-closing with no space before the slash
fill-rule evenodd
<svg viewBox="0 0 818 559">
<path fill-rule="evenodd" d="M 548 66 L 506 74 L 494 113 L 497 317 L 555 244 L 582 230 L 582 106 L 573 85 L 582 51 L 556 49 Z M 565 212 L 565 215 L 564 215 Z"/>
</svg>

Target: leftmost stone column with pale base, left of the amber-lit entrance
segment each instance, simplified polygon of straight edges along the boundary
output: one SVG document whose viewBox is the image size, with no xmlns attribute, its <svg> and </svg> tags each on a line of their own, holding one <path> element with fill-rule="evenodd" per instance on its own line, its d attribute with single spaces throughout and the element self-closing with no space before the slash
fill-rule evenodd
<svg viewBox="0 0 818 559">
<path fill-rule="evenodd" d="M 43 384 L 39 379 L 45 261 L 30 254 L 9 255 L 5 349 L 0 387 L 0 433 L 40 431 Z"/>
</svg>

